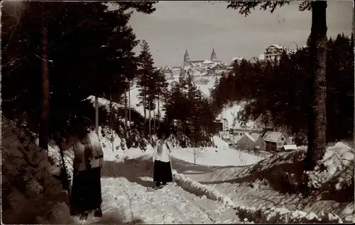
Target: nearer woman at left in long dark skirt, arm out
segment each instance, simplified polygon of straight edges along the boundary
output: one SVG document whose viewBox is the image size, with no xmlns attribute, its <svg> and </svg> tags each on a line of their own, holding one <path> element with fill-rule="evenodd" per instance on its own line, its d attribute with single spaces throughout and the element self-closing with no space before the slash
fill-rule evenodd
<svg viewBox="0 0 355 225">
<path fill-rule="evenodd" d="M 95 217 L 102 217 L 101 168 L 104 154 L 97 134 L 90 132 L 88 127 L 89 119 L 79 121 L 75 132 L 65 142 L 58 140 L 62 151 L 70 147 L 74 150 L 70 214 L 81 214 L 80 219 L 87 219 L 91 211 Z"/>
</svg>

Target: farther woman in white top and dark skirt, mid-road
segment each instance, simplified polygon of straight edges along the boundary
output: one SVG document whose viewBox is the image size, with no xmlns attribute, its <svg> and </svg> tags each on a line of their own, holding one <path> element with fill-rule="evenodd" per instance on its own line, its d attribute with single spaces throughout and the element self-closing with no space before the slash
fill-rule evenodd
<svg viewBox="0 0 355 225">
<path fill-rule="evenodd" d="M 173 182 L 170 162 L 170 153 L 173 150 L 173 146 L 167 140 L 168 136 L 168 129 L 158 130 L 158 142 L 153 152 L 153 181 L 155 182 L 155 188 L 160 188 L 162 185 L 166 185 L 166 183 Z"/>
</svg>

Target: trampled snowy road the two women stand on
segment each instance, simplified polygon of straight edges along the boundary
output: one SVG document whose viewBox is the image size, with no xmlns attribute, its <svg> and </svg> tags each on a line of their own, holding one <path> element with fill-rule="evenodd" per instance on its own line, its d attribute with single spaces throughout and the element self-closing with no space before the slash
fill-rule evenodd
<svg viewBox="0 0 355 225">
<path fill-rule="evenodd" d="M 103 217 L 89 216 L 84 223 L 235 224 L 239 221 L 234 209 L 223 209 L 222 204 L 197 197 L 175 184 L 151 190 L 153 179 L 147 164 L 107 161 L 102 177 Z"/>
</svg>

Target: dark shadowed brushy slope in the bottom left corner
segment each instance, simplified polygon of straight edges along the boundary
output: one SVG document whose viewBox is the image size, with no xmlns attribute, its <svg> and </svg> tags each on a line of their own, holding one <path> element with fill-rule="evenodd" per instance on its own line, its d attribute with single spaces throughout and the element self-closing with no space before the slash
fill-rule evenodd
<svg viewBox="0 0 355 225">
<path fill-rule="evenodd" d="M 59 168 L 24 129 L 1 117 L 1 209 L 4 224 L 70 223 Z"/>
</svg>

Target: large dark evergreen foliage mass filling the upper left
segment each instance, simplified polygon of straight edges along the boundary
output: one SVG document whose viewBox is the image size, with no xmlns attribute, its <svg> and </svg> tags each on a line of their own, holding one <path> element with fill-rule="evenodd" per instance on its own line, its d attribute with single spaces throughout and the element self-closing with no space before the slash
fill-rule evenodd
<svg viewBox="0 0 355 225">
<path fill-rule="evenodd" d="M 4 4 L 18 3 L 6 1 Z M 15 25 L 8 20 L 10 16 L 1 19 L 1 53 L 6 63 L 6 67 L 1 68 L 1 97 L 11 100 L 3 105 L 3 113 L 11 118 L 26 115 L 28 128 L 38 132 L 38 129 L 45 129 L 42 125 L 38 127 L 43 100 L 38 90 L 43 82 L 37 76 L 41 74 L 43 58 L 40 40 L 45 34 L 42 29 L 38 30 L 43 14 L 40 4 L 43 2 L 23 1 L 21 4 L 23 7 L 18 13 L 21 16 L 16 18 Z M 128 25 L 131 12 L 126 9 L 152 13 L 155 8 L 152 7 L 154 2 L 117 2 L 114 11 L 107 11 L 107 5 L 101 2 L 50 1 L 46 4 L 51 102 L 49 128 L 53 132 L 62 120 L 72 115 L 80 113 L 91 117 L 88 110 L 82 109 L 82 100 L 88 96 L 102 96 L 105 92 L 116 97 L 121 95 L 126 85 L 124 76 L 134 76 L 138 62 L 133 52 L 138 42 Z M 6 8 L 9 7 L 3 7 L 1 11 Z M 87 39 L 88 36 L 91 38 Z M 97 79 L 97 74 L 102 79 Z M 40 133 L 42 136 L 45 132 Z"/>
</svg>

